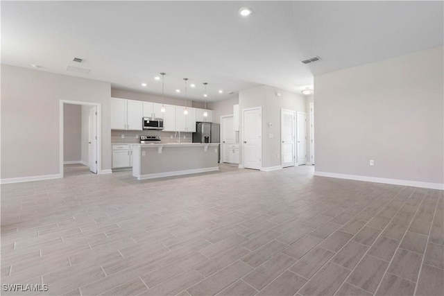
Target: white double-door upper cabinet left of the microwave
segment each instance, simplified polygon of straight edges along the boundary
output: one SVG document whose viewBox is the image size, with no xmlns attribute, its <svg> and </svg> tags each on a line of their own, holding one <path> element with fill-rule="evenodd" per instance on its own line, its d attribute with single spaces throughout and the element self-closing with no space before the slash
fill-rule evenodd
<svg viewBox="0 0 444 296">
<path fill-rule="evenodd" d="M 142 130 L 141 101 L 126 98 L 111 98 L 111 129 Z"/>
</svg>

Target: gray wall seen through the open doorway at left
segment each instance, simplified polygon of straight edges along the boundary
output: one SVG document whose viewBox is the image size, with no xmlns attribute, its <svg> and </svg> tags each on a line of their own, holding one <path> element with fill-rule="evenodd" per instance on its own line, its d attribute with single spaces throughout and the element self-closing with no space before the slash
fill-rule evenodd
<svg viewBox="0 0 444 296">
<path fill-rule="evenodd" d="M 80 162 L 82 157 L 82 106 L 64 104 L 63 161 Z"/>
</svg>

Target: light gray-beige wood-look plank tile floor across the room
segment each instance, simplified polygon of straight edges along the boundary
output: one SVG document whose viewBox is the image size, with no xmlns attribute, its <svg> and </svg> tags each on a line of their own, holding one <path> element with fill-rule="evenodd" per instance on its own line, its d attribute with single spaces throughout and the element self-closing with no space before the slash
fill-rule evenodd
<svg viewBox="0 0 444 296">
<path fill-rule="evenodd" d="M 81 171 L 81 170 L 80 170 Z M 443 295 L 443 191 L 313 167 L 1 186 L 3 295 Z"/>
</svg>

